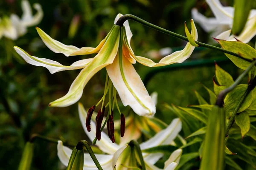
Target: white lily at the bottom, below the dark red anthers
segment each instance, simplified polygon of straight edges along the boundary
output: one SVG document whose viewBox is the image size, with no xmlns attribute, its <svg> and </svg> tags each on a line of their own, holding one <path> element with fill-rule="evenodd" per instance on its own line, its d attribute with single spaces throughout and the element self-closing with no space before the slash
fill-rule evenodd
<svg viewBox="0 0 256 170">
<path fill-rule="evenodd" d="M 91 141 L 95 138 L 95 122 L 91 122 L 92 131 L 88 132 L 87 127 L 85 125 L 85 120 L 87 117 L 87 112 L 84 110 L 82 105 L 79 105 L 79 117 L 81 124 L 84 128 L 85 133 L 89 137 Z M 143 142 L 140 144 L 141 150 L 145 150 L 151 147 L 156 147 L 160 145 L 166 145 L 170 144 L 178 135 L 178 133 L 181 130 L 181 121 L 180 119 L 173 119 L 171 124 L 166 127 L 166 129 L 161 130 L 159 133 L 157 133 L 155 136 L 153 136 L 151 139 L 149 139 L 146 142 Z M 100 150 L 102 150 L 106 154 L 95 154 L 99 163 L 101 164 L 102 168 L 104 170 L 110 170 L 113 169 L 113 167 L 117 164 L 117 167 L 120 165 L 118 164 L 119 156 L 122 153 L 125 148 L 127 148 L 127 145 L 118 145 L 116 143 L 112 143 L 111 140 L 108 138 L 108 135 L 102 132 L 102 139 L 97 142 L 96 144 Z M 70 155 L 72 153 L 72 150 L 68 147 L 63 146 L 62 142 L 58 142 L 58 157 L 60 161 L 67 166 L 68 161 L 70 159 Z M 176 167 L 179 158 L 181 156 L 182 150 L 176 150 L 170 158 L 166 161 L 165 167 L 166 170 L 173 170 L 171 168 Z M 146 164 L 147 170 L 160 170 L 159 168 L 155 167 L 154 164 L 163 156 L 163 153 L 143 153 L 143 159 Z M 128 159 L 128 157 L 127 157 Z M 172 163 L 176 162 L 176 163 Z M 171 164 L 171 165 L 169 165 Z M 127 165 L 127 164 L 126 164 Z M 116 168 L 117 168 L 116 167 Z M 94 164 L 93 160 L 90 158 L 90 155 L 88 153 L 84 154 L 84 170 L 97 170 L 96 165 Z"/>
</svg>

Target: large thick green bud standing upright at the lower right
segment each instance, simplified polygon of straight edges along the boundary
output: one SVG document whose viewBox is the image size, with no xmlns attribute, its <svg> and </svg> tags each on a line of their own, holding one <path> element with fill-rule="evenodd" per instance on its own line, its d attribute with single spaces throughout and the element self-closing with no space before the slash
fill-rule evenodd
<svg viewBox="0 0 256 170">
<path fill-rule="evenodd" d="M 225 112 L 215 105 L 209 114 L 200 170 L 223 170 L 225 148 Z"/>
</svg>

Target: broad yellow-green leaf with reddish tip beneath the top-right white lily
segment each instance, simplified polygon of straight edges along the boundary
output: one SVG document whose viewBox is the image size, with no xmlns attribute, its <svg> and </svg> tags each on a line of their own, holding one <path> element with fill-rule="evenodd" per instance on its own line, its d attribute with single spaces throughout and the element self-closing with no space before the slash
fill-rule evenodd
<svg viewBox="0 0 256 170">
<path fill-rule="evenodd" d="M 250 45 L 247 45 L 243 42 L 239 41 L 226 41 L 226 40 L 218 40 L 215 39 L 220 45 L 221 48 L 232 51 L 236 54 L 239 54 L 242 58 L 253 61 L 253 58 L 256 56 L 256 51 Z M 230 54 L 225 55 L 239 68 L 245 70 L 249 65 L 250 62 L 239 57 L 235 57 Z"/>
</svg>

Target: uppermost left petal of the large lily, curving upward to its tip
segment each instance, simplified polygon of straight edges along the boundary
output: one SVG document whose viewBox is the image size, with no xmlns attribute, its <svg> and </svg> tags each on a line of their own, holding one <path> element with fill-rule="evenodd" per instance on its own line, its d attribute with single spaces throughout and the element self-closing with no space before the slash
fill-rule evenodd
<svg viewBox="0 0 256 170">
<path fill-rule="evenodd" d="M 73 45 L 62 44 L 61 42 L 52 39 L 40 28 L 37 27 L 36 29 L 41 39 L 50 50 L 52 50 L 55 53 L 62 53 L 67 57 L 75 56 L 75 55 L 86 55 L 86 54 L 98 53 L 106 41 L 106 38 L 105 38 L 104 40 L 102 40 L 102 42 L 99 43 L 99 45 L 96 48 L 93 48 L 93 47 L 77 48 Z"/>
</svg>

